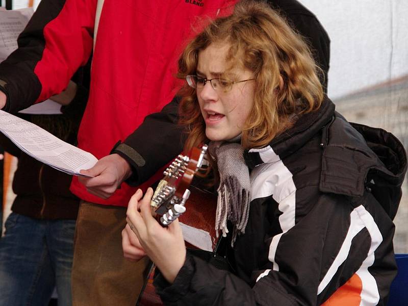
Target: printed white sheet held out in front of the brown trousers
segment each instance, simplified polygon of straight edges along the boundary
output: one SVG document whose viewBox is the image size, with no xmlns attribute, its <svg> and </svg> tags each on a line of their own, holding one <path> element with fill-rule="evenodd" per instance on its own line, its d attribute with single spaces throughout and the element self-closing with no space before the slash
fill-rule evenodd
<svg viewBox="0 0 408 306">
<path fill-rule="evenodd" d="M 62 141 L 41 127 L 0 110 L 0 132 L 36 160 L 71 175 L 86 176 L 81 169 L 95 165 L 97 158 Z"/>
</svg>

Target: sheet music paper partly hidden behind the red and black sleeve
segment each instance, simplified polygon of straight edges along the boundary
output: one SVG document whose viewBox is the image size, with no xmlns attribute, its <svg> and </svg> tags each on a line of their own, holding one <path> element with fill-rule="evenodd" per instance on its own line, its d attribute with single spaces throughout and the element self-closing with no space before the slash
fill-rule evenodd
<svg viewBox="0 0 408 306">
<path fill-rule="evenodd" d="M 0 62 L 17 49 L 17 37 L 24 30 L 34 11 L 32 8 L 0 11 Z M 47 99 L 20 111 L 24 114 L 61 114 L 61 105 Z"/>
</svg>

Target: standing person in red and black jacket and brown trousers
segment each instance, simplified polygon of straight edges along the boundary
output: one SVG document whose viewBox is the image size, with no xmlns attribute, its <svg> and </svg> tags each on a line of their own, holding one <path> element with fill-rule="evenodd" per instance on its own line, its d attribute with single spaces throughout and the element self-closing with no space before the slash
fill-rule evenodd
<svg viewBox="0 0 408 306">
<path fill-rule="evenodd" d="M 181 82 L 173 74 L 185 42 L 202 28 L 197 16 L 225 16 L 236 0 L 198 2 L 43 0 L 19 36 L 19 48 L 0 64 L 0 107 L 13 113 L 63 90 L 93 54 L 78 146 L 99 161 L 85 171 L 93 179 L 81 184 L 74 177 L 70 188 L 82 199 L 74 305 L 127 305 L 139 294 L 146 263 L 135 270 L 118 243 L 132 186 L 146 189 L 183 148 L 179 98 L 173 99 Z M 270 4 L 310 38 L 327 70 L 329 39 L 316 17 L 296 0 Z"/>
</svg>

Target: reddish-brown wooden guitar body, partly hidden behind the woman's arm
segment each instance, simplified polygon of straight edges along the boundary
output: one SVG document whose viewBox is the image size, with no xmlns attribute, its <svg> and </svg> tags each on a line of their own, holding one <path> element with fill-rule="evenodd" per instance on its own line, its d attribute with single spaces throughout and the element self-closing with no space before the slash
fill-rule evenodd
<svg viewBox="0 0 408 306">
<path fill-rule="evenodd" d="M 217 243 L 215 235 L 215 213 L 217 209 L 217 197 L 207 191 L 200 190 L 193 186 L 189 187 L 191 194 L 188 199 L 188 207 L 184 214 L 179 218 L 183 224 L 198 228 L 210 234 L 213 242 L 213 250 Z M 186 242 L 187 248 L 197 248 Z M 155 292 L 153 286 L 153 276 L 155 266 L 152 265 L 144 289 L 142 290 L 136 305 L 139 306 L 161 306 L 163 305 L 159 295 Z"/>
</svg>

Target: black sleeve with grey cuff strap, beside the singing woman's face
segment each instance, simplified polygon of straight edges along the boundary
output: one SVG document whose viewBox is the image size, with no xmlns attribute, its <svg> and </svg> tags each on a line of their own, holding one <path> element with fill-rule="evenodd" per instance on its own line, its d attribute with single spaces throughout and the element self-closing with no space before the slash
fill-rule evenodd
<svg viewBox="0 0 408 306">
<path fill-rule="evenodd" d="M 183 150 L 183 127 L 177 124 L 180 97 L 174 97 L 161 112 L 148 115 L 138 129 L 111 153 L 117 153 L 132 166 L 126 180 L 138 186 L 154 175 Z"/>
</svg>

